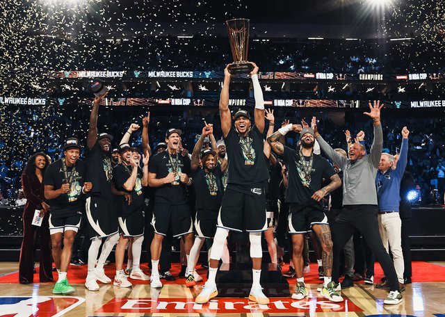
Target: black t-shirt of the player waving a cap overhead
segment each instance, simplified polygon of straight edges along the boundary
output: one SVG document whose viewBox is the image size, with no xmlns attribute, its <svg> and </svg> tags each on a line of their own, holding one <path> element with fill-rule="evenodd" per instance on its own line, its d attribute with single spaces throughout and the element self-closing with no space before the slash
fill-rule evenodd
<svg viewBox="0 0 445 317">
<path fill-rule="evenodd" d="M 112 180 L 111 156 L 104 154 L 99 143 L 96 142 L 92 149 L 86 150 L 86 181 L 92 183 L 90 194 L 114 200 L 113 193 L 111 193 Z"/>
</svg>

